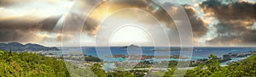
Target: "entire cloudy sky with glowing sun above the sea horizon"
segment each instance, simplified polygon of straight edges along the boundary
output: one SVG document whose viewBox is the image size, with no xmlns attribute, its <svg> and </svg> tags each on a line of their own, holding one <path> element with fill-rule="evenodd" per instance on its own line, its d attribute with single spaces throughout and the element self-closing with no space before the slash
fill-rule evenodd
<svg viewBox="0 0 256 77">
<path fill-rule="evenodd" d="M 49 47 L 179 46 L 189 41 L 181 41 L 181 30 L 177 26 L 185 24 L 172 18 L 180 14 L 178 4 L 190 22 L 185 26 L 191 26 L 193 46 L 256 46 L 255 0 L 158 3 L 169 7 L 168 10 L 150 0 L 100 2 L 0 0 L 0 42 L 38 43 Z"/>
</svg>

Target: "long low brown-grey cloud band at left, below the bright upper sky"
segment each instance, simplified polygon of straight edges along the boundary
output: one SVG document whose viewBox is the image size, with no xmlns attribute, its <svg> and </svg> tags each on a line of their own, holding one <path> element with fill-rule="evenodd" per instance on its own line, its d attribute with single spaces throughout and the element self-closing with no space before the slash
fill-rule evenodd
<svg viewBox="0 0 256 77">
<path fill-rule="evenodd" d="M 52 31 L 61 16 L 49 17 L 46 19 L 33 19 L 25 17 L 17 17 L 14 19 L 0 20 L 0 29 L 3 30 L 41 30 Z"/>
</svg>

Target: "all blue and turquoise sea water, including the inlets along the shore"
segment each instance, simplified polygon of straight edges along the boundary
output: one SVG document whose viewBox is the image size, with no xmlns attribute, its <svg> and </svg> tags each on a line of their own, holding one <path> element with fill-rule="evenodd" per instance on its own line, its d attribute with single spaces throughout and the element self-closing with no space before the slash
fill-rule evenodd
<svg viewBox="0 0 256 77">
<path fill-rule="evenodd" d="M 166 47 L 164 47 L 166 48 Z M 133 53 L 137 55 L 145 55 L 145 56 L 161 56 L 161 55 L 180 55 L 180 51 L 172 51 L 169 54 L 161 54 L 160 52 L 154 52 L 154 47 L 143 47 L 140 51 L 135 51 L 135 52 L 129 52 L 125 48 L 121 47 L 66 47 L 65 49 L 63 48 L 62 50 L 67 51 L 64 52 L 64 54 L 68 54 L 69 51 L 72 52 L 82 52 L 84 55 L 91 55 L 95 56 L 98 58 L 102 58 L 103 61 L 105 62 L 139 62 L 141 60 L 127 60 L 125 58 L 107 58 L 106 56 L 109 55 L 129 55 L 129 53 Z M 247 52 L 247 51 L 256 51 L 256 47 L 194 47 L 194 50 L 192 52 L 192 60 L 197 60 L 197 59 L 202 59 L 202 58 L 207 58 L 210 54 L 214 54 L 218 56 L 218 58 L 222 58 L 224 54 L 228 53 L 240 53 L 240 52 Z M 165 51 L 166 52 L 166 51 Z M 163 52 L 163 53 L 165 53 Z M 160 53 L 160 54 L 156 54 Z M 62 54 L 62 52 L 55 52 L 55 54 Z M 186 56 L 188 57 L 188 56 Z M 233 62 L 233 61 L 239 61 L 244 58 L 232 58 L 232 60 L 220 63 L 221 65 L 226 65 L 227 63 Z M 150 61 L 154 62 L 161 62 L 161 61 L 188 61 L 191 60 L 190 58 L 184 58 L 184 59 L 178 59 L 178 58 L 152 58 Z M 115 65 L 114 63 L 104 63 L 102 69 L 108 70 L 108 69 L 114 69 Z"/>
</svg>

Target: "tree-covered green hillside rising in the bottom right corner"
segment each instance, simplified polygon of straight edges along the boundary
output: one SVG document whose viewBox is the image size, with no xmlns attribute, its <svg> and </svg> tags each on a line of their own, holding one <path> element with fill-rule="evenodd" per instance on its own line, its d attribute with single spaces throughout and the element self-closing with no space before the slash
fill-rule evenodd
<svg viewBox="0 0 256 77">
<path fill-rule="evenodd" d="M 210 55 L 207 63 L 199 65 L 187 72 L 186 76 L 211 76 L 211 77 L 255 77 L 256 76 L 256 54 L 242 60 L 230 63 L 228 66 L 220 67 L 217 57 Z"/>
</svg>

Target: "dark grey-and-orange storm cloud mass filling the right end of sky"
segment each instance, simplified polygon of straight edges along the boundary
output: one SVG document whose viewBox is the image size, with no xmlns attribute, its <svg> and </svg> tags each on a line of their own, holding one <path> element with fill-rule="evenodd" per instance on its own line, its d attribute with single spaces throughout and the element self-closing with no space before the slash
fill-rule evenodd
<svg viewBox="0 0 256 77">
<path fill-rule="evenodd" d="M 256 21 L 256 3 L 244 1 L 222 3 L 218 0 L 207 0 L 200 4 L 205 14 L 218 19 L 214 25 L 218 36 L 210 43 L 254 43 L 255 30 L 251 27 Z"/>
</svg>

